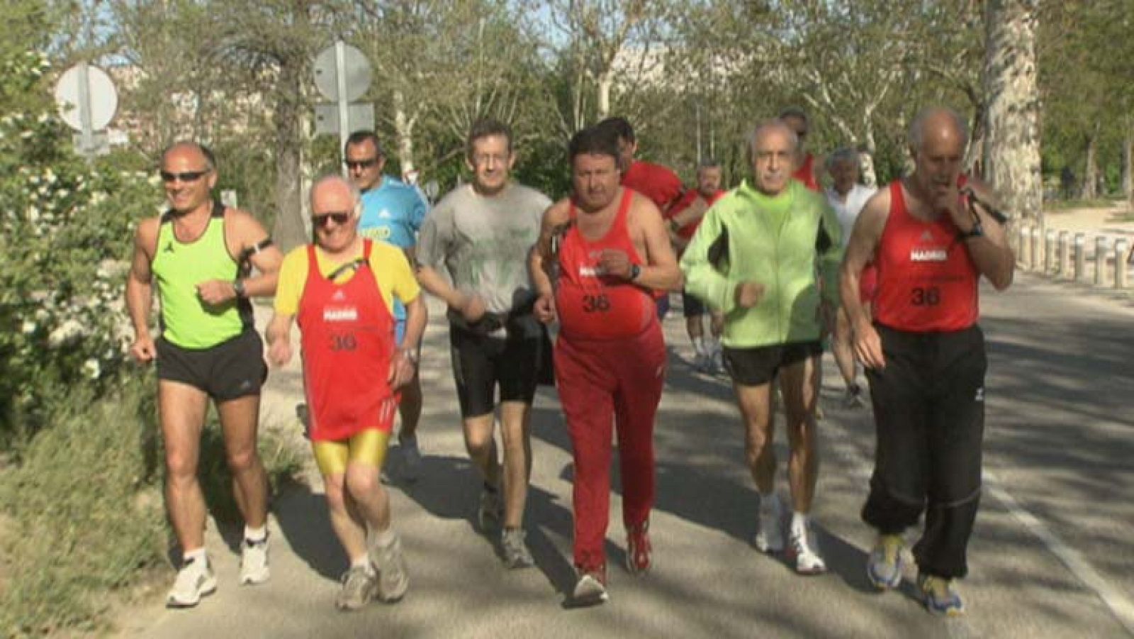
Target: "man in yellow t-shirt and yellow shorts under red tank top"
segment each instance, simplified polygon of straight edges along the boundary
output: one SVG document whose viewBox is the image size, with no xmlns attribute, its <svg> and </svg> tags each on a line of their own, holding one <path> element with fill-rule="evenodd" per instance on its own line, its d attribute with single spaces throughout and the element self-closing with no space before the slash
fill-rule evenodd
<svg viewBox="0 0 1134 639">
<path fill-rule="evenodd" d="M 311 191 L 311 210 L 315 243 L 284 259 L 268 353 L 276 365 L 291 359 L 291 323 L 298 321 L 308 436 L 331 526 L 350 560 L 336 605 L 357 609 L 375 597 L 396 602 L 409 586 L 379 476 L 400 389 L 417 368 L 426 311 L 405 254 L 358 235 L 357 188 L 324 177 Z M 407 312 L 400 344 L 395 300 Z"/>
</svg>

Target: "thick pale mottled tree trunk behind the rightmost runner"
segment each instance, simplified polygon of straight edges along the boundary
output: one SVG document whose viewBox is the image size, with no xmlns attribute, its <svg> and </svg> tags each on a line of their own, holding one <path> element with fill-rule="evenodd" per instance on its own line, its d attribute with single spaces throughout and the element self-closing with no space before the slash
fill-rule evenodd
<svg viewBox="0 0 1134 639">
<path fill-rule="evenodd" d="M 1035 84 L 1036 0 L 988 0 L 984 175 L 1005 210 L 1043 226 L 1039 91 Z"/>
</svg>

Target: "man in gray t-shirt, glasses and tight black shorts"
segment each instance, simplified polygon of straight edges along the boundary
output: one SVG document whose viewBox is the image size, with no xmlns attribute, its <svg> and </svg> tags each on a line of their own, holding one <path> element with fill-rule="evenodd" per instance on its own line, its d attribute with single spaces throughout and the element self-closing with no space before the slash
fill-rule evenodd
<svg viewBox="0 0 1134 639">
<path fill-rule="evenodd" d="M 525 567 L 534 563 L 523 530 L 528 421 L 540 358 L 550 356 L 540 352 L 543 329 L 532 314 L 527 255 L 551 200 L 509 179 L 516 157 L 507 125 L 477 121 L 467 153 L 473 182 L 446 195 L 425 219 L 417 238 L 417 279 L 449 305 L 465 447 L 484 480 L 477 523 L 482 530 L 502 524 L 505 564 Z M 442 263 L 448 280 L 439 270 Z M 492 438 L 497 387 L 502 468 Z"/>
</svg>

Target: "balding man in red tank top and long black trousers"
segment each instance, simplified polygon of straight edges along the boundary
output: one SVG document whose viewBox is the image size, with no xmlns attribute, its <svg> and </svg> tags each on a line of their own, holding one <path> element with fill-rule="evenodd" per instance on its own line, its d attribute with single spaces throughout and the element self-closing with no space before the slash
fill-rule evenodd
<svg viewBox="0 0 1134 639">
<path fill-rule="evenodd" d="M 967 572 L 981 493 L 987 361 L 978 279 L 1002 291 L 1015 268 L 1005 229 L 979 203 L 992 200 L 991 190 L 960 174 L 967 142 L 954 111 L 917 115 L 909 128 L 914 173 L 863 208 L 840 283 L 878 428 L 862 511 L 878 530 L 868 575 L 879 589 L 902 582 L 903 532 L 924 513 L 913 548 L 917 586 L 930 612 L 949 615 L 964 612 L 953 580 Z M 873 322 L 858 286 L 871 261 Z"/>
</svg>

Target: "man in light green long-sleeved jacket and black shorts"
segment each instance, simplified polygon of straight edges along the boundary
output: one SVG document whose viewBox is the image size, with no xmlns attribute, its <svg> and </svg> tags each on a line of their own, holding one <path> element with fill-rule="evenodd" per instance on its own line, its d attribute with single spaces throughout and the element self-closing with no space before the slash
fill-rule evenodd
<svg viewBox="0 0 1134 639">
<path fill-rule="evenodd" d="M 841 230 L 823 196 L 792 179 L 798 142 L 782 121 L 756 127 L 752 182 L 709 209 L 680 264 L 686 289 L 725 313 L 725 365 L 760 491 L 753 543 L 764 553 L 785 547 L 772 449 L 771 382 L 779 379 L 792 451 L 787 552 L 796 572 L 815 574 L 827 570 L 809 521 L 819 471 L 815 405 L 822 338 L 838 304 Z"/>
</svg>

